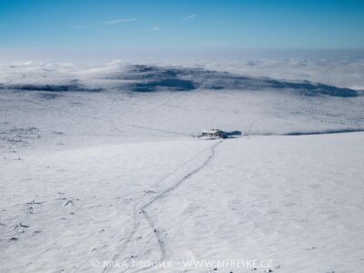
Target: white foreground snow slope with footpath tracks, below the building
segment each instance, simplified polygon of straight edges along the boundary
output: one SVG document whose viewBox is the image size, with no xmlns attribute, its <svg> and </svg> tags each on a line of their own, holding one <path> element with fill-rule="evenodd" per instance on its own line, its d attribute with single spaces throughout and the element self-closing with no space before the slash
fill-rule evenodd
<svg viewBox="0 0 364 273">
<path fill-rule="evenodd" d="M 136 271 L 136 260 L 169 261 L 157 272 L 356 272 L 362 141 L 181 139 L 4 159 L 2 272 Z"/>
</svg>

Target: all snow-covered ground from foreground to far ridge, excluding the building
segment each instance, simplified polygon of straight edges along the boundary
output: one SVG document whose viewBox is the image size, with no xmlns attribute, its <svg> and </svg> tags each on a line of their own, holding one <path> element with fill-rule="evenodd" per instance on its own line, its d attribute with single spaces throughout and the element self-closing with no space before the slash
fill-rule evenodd
<svg viewBox="0 0 364 273">
<path fill-rule="evenodd" d="M 361 88 L 227 70 L 1 66 L 0 271 L 359 272 Z"/>
</svg>

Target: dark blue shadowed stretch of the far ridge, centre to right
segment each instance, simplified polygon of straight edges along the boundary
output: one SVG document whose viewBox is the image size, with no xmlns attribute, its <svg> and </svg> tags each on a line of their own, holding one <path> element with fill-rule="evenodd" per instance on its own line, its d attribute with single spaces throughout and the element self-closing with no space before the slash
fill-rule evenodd
<svg viewBox="0 0 364 273">
<path fill-rule="evenodd" d="M 306 96 L 358 96 L 358 92 L 349 88 L 340 88 L 308 81 L 288 82 L 270 78 L 238 76 L 227 72 L 217 72 L 202 68 L 160 67 L 160 66 L 128 66 L 127 73 L 118 75 L 118 79 L 142 80 L 131 86 L 133 91 L 153 92 L 159 87 L 171 90 L 204 89 L 291 89 L 293 92 Z"/>
</svg>

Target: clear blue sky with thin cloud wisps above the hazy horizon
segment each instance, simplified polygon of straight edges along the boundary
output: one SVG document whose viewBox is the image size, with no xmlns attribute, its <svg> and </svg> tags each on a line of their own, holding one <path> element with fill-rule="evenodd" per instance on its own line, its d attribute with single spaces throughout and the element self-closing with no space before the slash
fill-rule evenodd
<svg viewBox="0 0 364 273">
<path fill-rule="evenodd" d="M 1 49 L 364 49 L 364 1 L 0 0 Z"/>
</svg>

